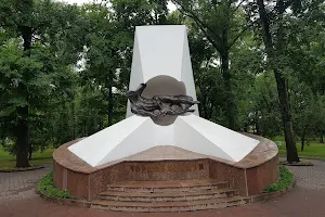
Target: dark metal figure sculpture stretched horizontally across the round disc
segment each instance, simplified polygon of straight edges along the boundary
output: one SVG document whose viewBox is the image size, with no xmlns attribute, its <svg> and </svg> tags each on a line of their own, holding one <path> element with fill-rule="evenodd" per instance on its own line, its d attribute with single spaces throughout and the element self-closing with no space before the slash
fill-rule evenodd
<svg viewBox="0 0 325 217">
<path fill-rule="evenodd" d="M 154 95 L 147 99 L 141 95 L 146 84 L 141 84 L 134 91 L 128 91 L 127 98 L 131 102 L 131 112 L 141 116 L 150 116 L 154 120 L 161 120 L 166 115 L 181 115 L 190 110 L 198 101 L 193 101 L 188 95 Z"/>
</svg>

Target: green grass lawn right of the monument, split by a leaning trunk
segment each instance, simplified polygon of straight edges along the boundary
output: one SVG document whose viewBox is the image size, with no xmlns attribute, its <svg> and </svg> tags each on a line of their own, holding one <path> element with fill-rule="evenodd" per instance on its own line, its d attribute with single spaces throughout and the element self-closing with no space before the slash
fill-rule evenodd
<svg viewBox="0 0 325 217">
<path fill-rule="evenodd" d="M 280 156 L 286 156 L 286 143 L 283 137 L 273 138 L 273 141 L 282 141 L 282 145 L 278 148 Z M 300 157 L 311 158 L 325 158 L 325 143 L 317 141 L 311 141 L 309 145 L 304 144 L 303 152 L 301 152 L 301 143 L 297 142 L 298 155 Z"/>
</svg>

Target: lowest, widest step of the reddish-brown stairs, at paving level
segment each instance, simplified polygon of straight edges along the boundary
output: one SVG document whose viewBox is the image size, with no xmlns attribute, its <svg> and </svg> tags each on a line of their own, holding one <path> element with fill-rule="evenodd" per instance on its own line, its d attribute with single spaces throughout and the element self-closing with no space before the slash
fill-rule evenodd
<svg viewBox="0 0 325 217">
<path fill-rule="evenodd" d="M 243 196 L 231 196 L 223 199 L 188 201 L 188 202 L 120 202 L 120 201 L 93 201 L 91 208 L 122 210 L 122 212 L 190 212 L 205 210 L 212 208 L 224 208 L 236 205 L 244 205 L 249 199 Z"/>
</svg>

